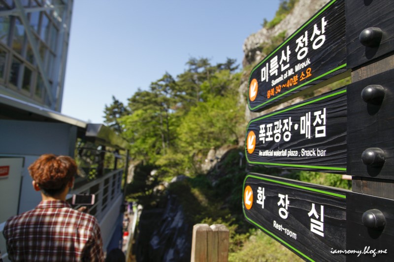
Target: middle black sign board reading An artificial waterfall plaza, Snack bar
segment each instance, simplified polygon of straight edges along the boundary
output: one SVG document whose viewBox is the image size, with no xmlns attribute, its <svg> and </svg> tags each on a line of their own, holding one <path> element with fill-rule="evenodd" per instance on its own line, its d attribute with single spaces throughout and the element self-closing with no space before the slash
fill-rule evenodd
<svg viewBox="0 0 394 262">
<path fill-rule="evenodd" d="M 346 87 L 249 122 L 250 164 L 346 173 Z"/>
</svg>

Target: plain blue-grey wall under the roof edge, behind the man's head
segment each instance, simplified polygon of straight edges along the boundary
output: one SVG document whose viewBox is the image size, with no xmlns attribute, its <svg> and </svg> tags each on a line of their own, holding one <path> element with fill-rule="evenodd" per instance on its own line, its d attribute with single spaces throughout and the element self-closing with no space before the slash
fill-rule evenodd
<svg viewBox="0 0 394 262">
<path fill-rule="evenodd" d="M 0 157 L 24 158 L 18 213 L 34 208 L 41 200 L 33 190 L 27 168 L 42 154 L 74 156 L 77 127 L 65 123 L 0 120 Z M 1 181 L 0 181 L 1 182 Z"/>
</svg>

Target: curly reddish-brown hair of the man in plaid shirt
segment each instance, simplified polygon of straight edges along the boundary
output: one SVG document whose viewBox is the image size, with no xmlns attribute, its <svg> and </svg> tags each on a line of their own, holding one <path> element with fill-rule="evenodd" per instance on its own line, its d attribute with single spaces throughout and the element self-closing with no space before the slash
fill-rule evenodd
<svg viewBox="0 0 394 262">
<path fill-rule="evenodd" d="M 77 173 L 77 165 L 69 156 L 44 154 L 28 170 L 45 195 L 56 195 Z"/>
</svg>

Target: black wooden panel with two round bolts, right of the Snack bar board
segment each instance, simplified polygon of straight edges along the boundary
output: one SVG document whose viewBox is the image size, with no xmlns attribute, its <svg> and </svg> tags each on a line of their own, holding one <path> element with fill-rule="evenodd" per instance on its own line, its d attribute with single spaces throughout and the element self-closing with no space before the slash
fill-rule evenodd
<svg viewBox="0 0 394 262">
<path fill-rule="evenodd" d="M 394 180 L 393 75 L 394 70 L 389 70 L 348 86 L 347 169 L 349 175 Z M 383 100 L 364 102 L 361 98 L 362 90 L 373 85 L 383 88 Z M 383 166 L 363 164 L 361 155 L 368 148 L 383 150 L 386 159 Z"/>
</svg>

